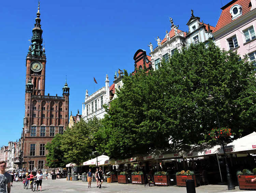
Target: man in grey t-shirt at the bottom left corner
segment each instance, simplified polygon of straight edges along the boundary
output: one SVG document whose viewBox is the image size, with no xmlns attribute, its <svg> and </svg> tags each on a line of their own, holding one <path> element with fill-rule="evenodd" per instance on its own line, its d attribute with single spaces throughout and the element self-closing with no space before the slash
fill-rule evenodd
<svg viewBox="0 0 256 193">
<path fill-rule="evenodd" d="M 6 193 L 6 185 L 7 185 L 7 193 L 11 193 L 11 181 L 12 176 L 5 172 L 6 162 L 0 161 L 0 193 Z"/>
</svg>

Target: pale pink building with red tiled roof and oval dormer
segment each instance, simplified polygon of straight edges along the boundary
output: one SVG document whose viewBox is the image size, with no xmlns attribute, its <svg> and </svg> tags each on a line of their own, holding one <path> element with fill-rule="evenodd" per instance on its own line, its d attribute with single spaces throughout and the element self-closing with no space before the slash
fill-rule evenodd
<svg viewBox="0 0 256 193">
<path fill-rule="evenodd" d="M 233 0 L 222 9 L 213 31 L 215 44 L 237 51 L 256 65 L 256 0 Z"/>
</svg>

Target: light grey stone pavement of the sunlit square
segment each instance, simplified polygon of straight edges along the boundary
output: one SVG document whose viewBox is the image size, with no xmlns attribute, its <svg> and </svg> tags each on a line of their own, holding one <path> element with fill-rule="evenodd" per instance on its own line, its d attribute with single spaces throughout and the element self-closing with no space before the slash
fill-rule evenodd
<svg viewBox="0 0 256 193">
<path fill-rule="evenodd" d="M 102 188 L 96 187 L 96 182 L 92 182 L 92 187 L 88 188 L 87 182 L 82 181 L 66 181 L 66 179 L 43 179 L 42 193 L 100 193 L 100 192 L 111 192 L 111 193 L 186 193 L 185 187 L 146 187 L 144 185 L 137 184 L 118 184 L 118 183 L 107 183 L 102 184 Z M 31 192 L 31 189 L 24 190 L 22 182 L 13 182 L 11 193 L 27 193 Z M 36 192 L 36 191 L 35 191 Z M 228 191 L 226 185 L 206 185 L 196 188 L 196 193 L 223 193 L 223 192 L 243 192 L 236 187 L 236 190 Z M 251 191 L 252 193 L 254 191 Z M 245 192 L 243 192 L 245 193 Z"/>
</svg>

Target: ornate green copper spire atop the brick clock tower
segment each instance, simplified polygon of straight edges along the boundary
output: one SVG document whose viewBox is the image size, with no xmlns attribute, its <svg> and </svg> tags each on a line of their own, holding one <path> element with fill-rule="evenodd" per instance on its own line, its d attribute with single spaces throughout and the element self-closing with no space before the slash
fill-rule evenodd
<svg viewBox="0 0 256 193">
<path fill-rule="evenodd" d="M 38 2 L 38 10 L 37 10 L 37 18 L 35 18 L 34 28 L 32 30 L 33 36 L 31 39 L 31 55 L 33 56 L 44 56 L 44 51 L 42 50 L 42 33 L 43 30 L 41 29 L 41 19 L 40 19 L 40 2 Z"/>
</svg>

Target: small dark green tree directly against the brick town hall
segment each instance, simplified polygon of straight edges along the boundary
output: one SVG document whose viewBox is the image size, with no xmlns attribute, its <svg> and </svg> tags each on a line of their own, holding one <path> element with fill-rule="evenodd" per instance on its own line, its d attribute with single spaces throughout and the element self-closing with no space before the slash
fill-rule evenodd
<svg viewBox="0 0 256 193">
<path fill-rule="evenodd" d="M 46 154 L 46 165 L 51 168 L 65 167 L 67 161 L 64 159 L 64 152 L 61 150 L 62 135 L 56 134 L 52 142 L 47 143 L 45 148 L 48 151 Z"/>
</svg>

